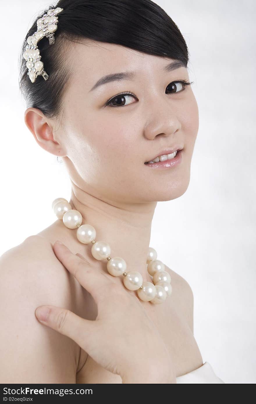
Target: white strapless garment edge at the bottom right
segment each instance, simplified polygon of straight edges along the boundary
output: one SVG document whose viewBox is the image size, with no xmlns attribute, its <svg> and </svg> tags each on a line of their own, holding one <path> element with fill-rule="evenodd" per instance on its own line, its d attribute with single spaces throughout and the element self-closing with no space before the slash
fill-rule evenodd
<svg viewBox="0 0 256 404">
<path fill-rule="evenodd" d="M 200 368 L 192 372 L 176 377 L 178 383 L 224 383 L 216 374 L 209 362 L 205 362 Z"/>
</svg>

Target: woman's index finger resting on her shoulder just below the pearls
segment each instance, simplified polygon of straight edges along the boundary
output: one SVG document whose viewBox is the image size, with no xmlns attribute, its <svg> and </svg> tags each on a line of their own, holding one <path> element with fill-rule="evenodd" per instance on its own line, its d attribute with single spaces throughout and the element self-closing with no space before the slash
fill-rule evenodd
<svg viewBox="0 0 256 404">
<path fill-rule="evenodd" d="M 85 259 L 73 254 L 65 244 L 53 245 L 54 252 L 59 261 L 68 269 L 68 271 L 78 280 L 92 295 L 96 303 L 106 295 L 108 284 L 112 281 L 100 272 L 97 268 L 91 268 Z"/>
</svg>

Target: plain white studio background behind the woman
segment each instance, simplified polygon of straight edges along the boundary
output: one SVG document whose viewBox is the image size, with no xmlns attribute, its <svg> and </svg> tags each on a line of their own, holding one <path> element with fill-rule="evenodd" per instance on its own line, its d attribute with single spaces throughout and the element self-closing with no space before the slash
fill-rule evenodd
<svg viewBox="0 0 256 404">
<path fill-rule="evenodd" d="M 255 3 L 156 3 L 188 45 L 200 123 L 188 190 L 158 203 L 150 246 L 193 289 L 203 361 L 225 383 L 256 383 Z M 25 126 L 18 86 L 23 39 L 48 5 L 1 5 L 0 254 L 56 220 L 55 198 L 70 198 L 64 166 Z"/>
</svg>

